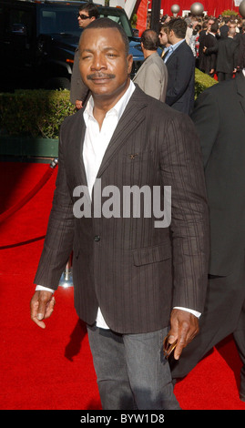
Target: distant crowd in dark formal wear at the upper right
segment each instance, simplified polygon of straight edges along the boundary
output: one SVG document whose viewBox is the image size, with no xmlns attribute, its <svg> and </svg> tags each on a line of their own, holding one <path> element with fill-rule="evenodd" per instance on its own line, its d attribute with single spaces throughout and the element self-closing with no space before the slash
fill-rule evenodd
<svg viewBox="0 0 245 428">
<path fill-rule="evenodd" d="M 187 23 L 186 41 L 196 58 L 196 66 L 219 81 L 231 78 L 244 61 L 245 20 L 231 16 L 195 16 L 183 18 Z M 161 18 L 163 28 L 171 18 Z"/>
</svg>

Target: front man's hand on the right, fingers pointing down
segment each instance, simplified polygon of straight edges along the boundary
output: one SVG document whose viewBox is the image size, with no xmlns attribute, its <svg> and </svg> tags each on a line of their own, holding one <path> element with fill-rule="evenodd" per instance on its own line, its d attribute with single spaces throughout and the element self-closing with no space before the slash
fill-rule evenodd
<svg viewBox="0 0 245 428">
<path fill-rule="evenodd" d="M 199 333 L 199 319 L 188 311 L 175 309 L 171 313 L 170 325 L 169 343 L 177 340 L 174 358 L 179 360 L 183 349 Z"/>
</svg>

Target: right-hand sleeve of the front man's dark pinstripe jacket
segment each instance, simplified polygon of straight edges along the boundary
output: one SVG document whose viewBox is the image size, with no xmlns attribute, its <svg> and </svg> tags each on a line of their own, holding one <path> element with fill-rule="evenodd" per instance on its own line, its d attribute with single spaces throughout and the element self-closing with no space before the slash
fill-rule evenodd
<svg viewBox="0 0 245 428">
<path fill-rule="evenodd" d="M 203 311 L 209 265 L 209 213 L 199 138 L 189 117 L 168 123 L 161 175 L 171 186 L 173 307 Z"/>
</svg>

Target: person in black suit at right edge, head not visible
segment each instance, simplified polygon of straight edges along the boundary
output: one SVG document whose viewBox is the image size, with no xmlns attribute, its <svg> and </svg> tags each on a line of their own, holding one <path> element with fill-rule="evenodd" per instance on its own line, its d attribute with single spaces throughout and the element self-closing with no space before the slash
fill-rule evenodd
<svg viewBox="0 0 245 428">
<path fill-rule="evenodd" d="M 203 91 L 191 118 L 199 133 L 209 199 L 209 285 L 199 336 L 179 362 L 171 362 L 172 375 L 186 376 L 232 333 L 242 362 L 240 400 L 245 402 L 245 68 Z"/>
</svg>

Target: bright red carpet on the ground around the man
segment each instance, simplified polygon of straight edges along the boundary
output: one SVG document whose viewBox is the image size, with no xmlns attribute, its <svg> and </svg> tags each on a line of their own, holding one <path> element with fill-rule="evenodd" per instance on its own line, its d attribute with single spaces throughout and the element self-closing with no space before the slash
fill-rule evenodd
<svg viewBox="0 0 245 428">
<path fill-rule="evenodd" d="M 0 213 L 25 197 L 47 168 L 1 162 Z M 87 334 L 73 308 L 73 289 L 56 291 L 56 308 L 46 330 L 29 317 L 56 170 L 33 199 L 0 224 L 1 410 L 101 408 Z M 176 385 L 181 407 L 245 410 L 238 392 L 240 367 L 228 338 Z"/>
</svg>

